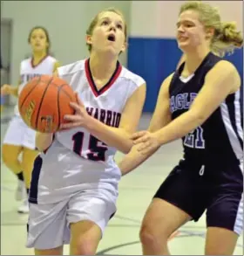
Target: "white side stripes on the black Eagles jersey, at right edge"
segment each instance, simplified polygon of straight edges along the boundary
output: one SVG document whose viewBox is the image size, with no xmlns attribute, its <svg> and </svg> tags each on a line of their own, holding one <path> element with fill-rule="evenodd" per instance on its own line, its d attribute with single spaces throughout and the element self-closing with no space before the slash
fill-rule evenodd
<svg viewBox="0 0 244 256">
<path fill-rule="evenodd" d="M 234 127 L 231 123 L 230 114 L 229 114 L 229 110 L 226 102 L 221 103 L 220 112 L 222 115 L 222 120 L 227 129 L 227 135 L 229 138 L 229 142 L 231 143 L 232 148 L 234 150 L 234 154 L 237 157 L 237 159 L 243 159 L 243 150 L 241 149 L 241 142 L 238 138 L 238 136 L 240 136 L 242 140 L 242 135 L 243 135 L 243 129 L 241 128 L 240 92 L 234 93 L 234 121 L 236 124 L 238 134 L 236 134 L 236 132 L 234 131 Z M 242 140 L 242 143 L 243 143 L 243 140 Z"/>
</svg>

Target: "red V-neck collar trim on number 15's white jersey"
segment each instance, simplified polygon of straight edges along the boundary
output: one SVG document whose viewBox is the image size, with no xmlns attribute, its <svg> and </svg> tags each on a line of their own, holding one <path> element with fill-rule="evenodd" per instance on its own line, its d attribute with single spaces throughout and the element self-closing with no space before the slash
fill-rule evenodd
<svg viewBox="0 0 244 256">
<path fill-rule="evenodd" d="M 91 87 L 92 93 L 96 97 L 98 97 L 102 93 L 105 93 L 105 91 L 107 91 L 114 84 L 114 82 L 119 78 L 119 74 L 121 73 L 122 66 L 120 65 L 120 63 L 118 61 L 117 65 L 116 65 L 116 69 L 115 69 L 114 73 L 112 74 L 112 77 L 110 78 L 110 80 L 105 84 L 105 86 L 102 86 L 102 88 L 100 88 L 98 90 L 98 88 L 92 78 L 92 75 L 91 75 L 91 68 L 90 68 L 89 61 L 90 61 L 90 59 L 85 59 L 85 75 L 88 80 L 88 84 Z"/>
</svg>

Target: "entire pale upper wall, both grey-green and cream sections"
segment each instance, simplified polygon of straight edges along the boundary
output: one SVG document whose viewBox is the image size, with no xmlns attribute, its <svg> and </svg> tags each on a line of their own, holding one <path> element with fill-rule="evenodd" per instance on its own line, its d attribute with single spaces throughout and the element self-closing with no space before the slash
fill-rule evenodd
<svg viewBox="0 0 244 256">
<path fill-rule="evenodd" d="M 87 57 L 85 31 L 99 10 L 116 7 L 125 14 L 133 37 L 174 38 L 180 5 L 185 1 L 1 1 L 1 17 L 13 20 L 11 77 L 16 83 L 18 67 L 30 52 L 30 28 L 45 26 L 51 34 L 51 52 L 66 64 Z M 206 1 L 220 8 L 223 21 L 235 20 L 243 31 L 241 1 Z M 143 52 L 142 52 L 143 54 Z M 126 65 L 126 53 L 121 55 Z"/>
</svg>

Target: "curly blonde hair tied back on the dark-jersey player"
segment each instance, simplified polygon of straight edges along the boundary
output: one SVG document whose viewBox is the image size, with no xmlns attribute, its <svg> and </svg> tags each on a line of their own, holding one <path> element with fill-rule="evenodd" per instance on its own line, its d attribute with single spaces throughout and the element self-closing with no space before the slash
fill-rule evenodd
<svg viewBox="0 0 244 256">
<path fill-rule="evenodd" d="M 234 22 L 222 23 L 220 12 L 208 3 L 190 1 L 181 5 L 180 14 L 186 10 L 196 10 L 200 14 L 200 22 L 206 28 L 214 28 L 211 49 L 223 57 L 227 52 L 233 53 L 235 48 L 241 48 L 243 38 L 241 31 L 236 30 Z"/>
</svg>

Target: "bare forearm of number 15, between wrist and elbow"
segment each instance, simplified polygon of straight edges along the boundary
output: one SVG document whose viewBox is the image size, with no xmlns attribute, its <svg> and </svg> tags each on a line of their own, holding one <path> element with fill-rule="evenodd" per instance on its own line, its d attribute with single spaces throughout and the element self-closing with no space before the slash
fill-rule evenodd
<svg viewBox="0 0 244 256">
<path fill-rule="evenodd" d="M 85 124 L 85 128 L 101 142 L 105 142 L 108 146 L 114 147 L 124 154 L 132 149 L 130 135 L 122 128 L 109 127 L 93 117 Z"/>
</svg>

